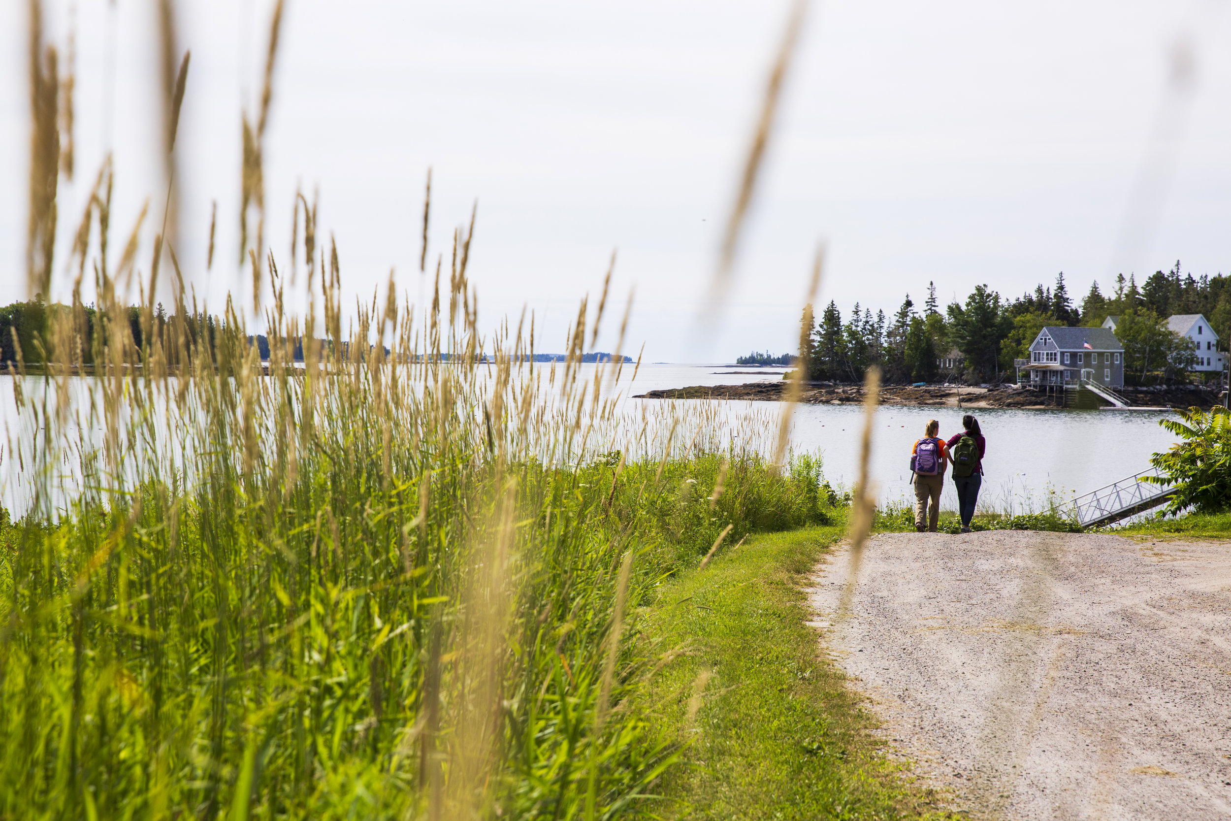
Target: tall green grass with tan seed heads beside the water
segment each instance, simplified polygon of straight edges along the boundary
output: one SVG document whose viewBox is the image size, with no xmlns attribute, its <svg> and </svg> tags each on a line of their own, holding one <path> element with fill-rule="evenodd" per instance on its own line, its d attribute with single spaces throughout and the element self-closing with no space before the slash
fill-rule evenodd
<svg viewBox="0 0 1231 821">
<path fill-rule="evenodd" d="M 0 816 L 640 811 L 677 740 L 629 707 L 636 608 L 728 528 L 824 521 L 819 463 L 732 447 L 716 404 L 630 415 L 628 370 L 580 368 L 585 308 L 563 367 L 484 338 L 465 250 L 431 310 L 390 282 L 351 322 L 336 254 L 302 321 L 268 257 L 262 363 L 178 279 L 134 334 L 135 251 L 80 249 L 92 322 L 48 311 L 14 383 Z"/>
</svg>

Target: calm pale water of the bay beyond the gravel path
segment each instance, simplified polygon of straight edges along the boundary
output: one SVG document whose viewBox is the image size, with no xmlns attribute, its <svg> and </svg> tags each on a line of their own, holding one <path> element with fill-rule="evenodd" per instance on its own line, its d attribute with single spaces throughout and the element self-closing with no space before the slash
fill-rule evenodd
<svg viewBox="0 0 1231 821">
<path fill-rule="evenodd" d="M 595 366 L 582 366 L 581 378 L 593 375 Z M 753 373 L 731 373 L 731 372 Z M 739 366 L 644 364 L 636 380 L 629 384 L 633 366 L 624 366 L 619 393 L 624 406 L 636 411 L 643 404 L 661 407 L 664 400 L 632 399 L 633 394 L 686 385 L 745 384 L 758 380 L 777 382 L 782 368 L 755 369 Z M 675 400 L 681 405 L 696 400 Z M 776 415 L 777 402 L 724 402 L 730 417 L 753 410 Z M 879 483 L 884 502 L 913 499 L 910 487 L 911 446 L 923 435 L 929 419 L 940 422 L 945 438 L 960 431 L 961 415 L 956 407 L 881 407 L 876 411 L 873 439 L 873 478 Z M 984 460 L 981 502 L 996 510 L 1012 503 L 1038 508 L 1049 489 L 1071 496 L 1102 487 L 1150 467 L 1150 455 L 1166 451 L 1176 437 L 1165 431 L 1158 420 L 1166 411 L 1023 411 L 976 410 L 987 437 Z M 14 402 L 12 378 L 0 377 L 0 421 L 10 437 L 20 436 L 21 426 Z M 835 485 L 853 484 L 858 464 L 858 438 L 863 425 L 863 409 L 854 405 L 800 405 L 795 409 L 792 446 L 796 451 L 819 452 L 825 460 L 825 474 Z M 10 471 L 12 460 L 4 446 L 0 474 L 0 497 L 11 507 L 20 506 L 21 495 L 14 486 Z M 942 500 L 948 508 L 956 507 L 953 483 L 945 483 Z"/>
</svg>

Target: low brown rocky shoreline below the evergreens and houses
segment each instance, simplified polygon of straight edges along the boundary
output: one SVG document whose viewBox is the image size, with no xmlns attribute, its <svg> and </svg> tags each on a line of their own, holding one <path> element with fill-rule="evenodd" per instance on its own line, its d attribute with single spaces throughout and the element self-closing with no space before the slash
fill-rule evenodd
<svg viewBox="0 0 1231 821">
<path fill-rule="evenodd" d="M 742 401 L 782 401 L 787 398 L 788 382 L 753 382 L 744 385 L 692 385 L 668 390 L 650 390 L 634 399 L 734 399 Z M 1045 393 L 1019 385 L 986 385 L 958 388 L 955 385 L 884 385 L 883 405 L 915 407 L 1020 407 L 1057 409 L 1062 391 Z M 1178 388 L 1124 388 L 1121 396 L 1139 407 L 1210 407 L 1219 404 L 1216 389 L 1198 385 Z M 800 401 L 809 405 L 857 405 L 863 401 L 863 385 L 837 383 L 805 383 Z"/>
</svg>

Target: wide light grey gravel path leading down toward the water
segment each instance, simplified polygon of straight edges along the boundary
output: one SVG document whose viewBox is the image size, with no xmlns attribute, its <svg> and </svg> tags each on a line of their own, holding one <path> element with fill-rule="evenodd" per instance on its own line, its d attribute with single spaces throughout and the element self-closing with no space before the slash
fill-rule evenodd
<svg viewBox="0 0 1231 821">
<path fill-rule="evenodd" d="M 811 592 L 826 645 L 954 809 L 1231 817 L 1231 543 L 894 533 L 851 565 Z"/>
</svg>

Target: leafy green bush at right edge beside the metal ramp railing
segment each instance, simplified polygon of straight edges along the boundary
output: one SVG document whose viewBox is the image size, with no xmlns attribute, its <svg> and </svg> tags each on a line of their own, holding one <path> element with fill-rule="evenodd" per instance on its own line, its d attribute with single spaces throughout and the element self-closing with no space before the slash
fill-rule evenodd
<svg viewBox="0 0 1231 821">
<path fill-rule="evenodd" d="M 1167 512 L 1193 507 L 1200 513 L 1216 513 L 1231 507 L 1231 414 L 1225 407 L 1190 407 L 1179 412 L 1179 420 L 1163 419 L 1158 423 L 1184 439 L 1150 458 L 1163 475 L 1145 481 L 1174 485 Z"/>
</svg>

